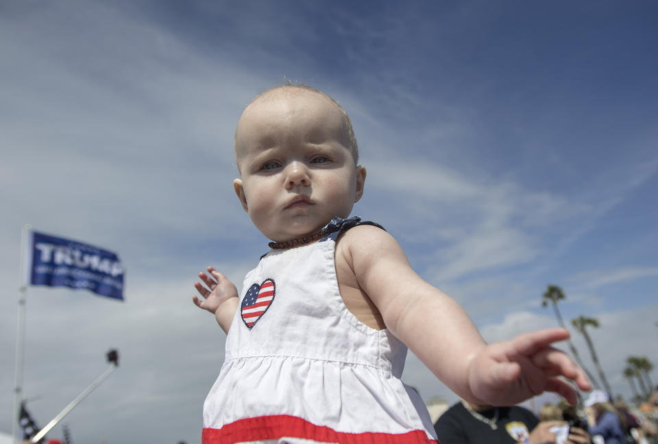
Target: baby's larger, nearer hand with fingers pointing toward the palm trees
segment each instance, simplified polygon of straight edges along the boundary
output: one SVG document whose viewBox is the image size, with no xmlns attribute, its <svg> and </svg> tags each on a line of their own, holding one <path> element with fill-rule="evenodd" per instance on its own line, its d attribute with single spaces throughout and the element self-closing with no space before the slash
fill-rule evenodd
<svg viewBox="0 0 658 444">
<path fill-rule="evenodd" d="M 545 329 L 488 344 L 470 368 L 472 393 L 487 404 L 511 406 L 539 393 L 555 392 L 575 405 L 578 393 L 562 377 L 585 391 L 592 384 L 566 353 L 550 346 L 568 337 L 566 329 Z"/>
</svg>

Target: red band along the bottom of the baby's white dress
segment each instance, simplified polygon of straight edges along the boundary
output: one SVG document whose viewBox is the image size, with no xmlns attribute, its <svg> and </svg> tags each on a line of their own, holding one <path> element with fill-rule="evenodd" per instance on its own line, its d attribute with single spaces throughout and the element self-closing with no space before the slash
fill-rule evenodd
<svg viewBox="0 0 658 444">
<path fill-rule="evenodd" d="M 437 444 L 422 430 L 393 433 L 345 433 L 325 425 L 315 425 L 288 414 L 245 418 L 224 425 L 221 429 L 204 428 L 202 444 L 234 444 L 266 439 L 301 438 L 320 443 L 341 444 Z"/>
</svg>

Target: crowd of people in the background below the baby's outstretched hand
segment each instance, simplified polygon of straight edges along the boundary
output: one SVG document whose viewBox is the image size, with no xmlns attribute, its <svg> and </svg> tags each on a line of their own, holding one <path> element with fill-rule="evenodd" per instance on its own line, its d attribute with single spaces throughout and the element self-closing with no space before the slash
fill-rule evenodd
<svg viewBox="0 0 658 444">
<path fill-rule="evenodd" d="M 539 417 L 521 406 L 461 400 L 435 423 L 441 444 L 658 444 L 658 387 L 648 401 L 629 407 L 592 390 L 578 407 L 545 404 Z"/>
</svg>

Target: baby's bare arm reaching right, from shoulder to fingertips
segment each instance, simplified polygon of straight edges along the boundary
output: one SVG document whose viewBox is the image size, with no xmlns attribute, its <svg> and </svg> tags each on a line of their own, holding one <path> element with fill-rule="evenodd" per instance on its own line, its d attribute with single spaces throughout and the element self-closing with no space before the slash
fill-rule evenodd
<svg viewBox="0 0 658 444">
<path fill-rule="evenodd" d="M 413 271 L 386 231 L 357 226 L 341 242 L 348 242 L 358 284 L 387 328 L 463 399 L 509 406 L 552 391 L 575 404 L 576 390 L 559 375 L 589 390 L 585 373 L 550 347 L 568 338 L 567 330 L 535 331 L 487 345 L 459 304 Z"/>
</svg>

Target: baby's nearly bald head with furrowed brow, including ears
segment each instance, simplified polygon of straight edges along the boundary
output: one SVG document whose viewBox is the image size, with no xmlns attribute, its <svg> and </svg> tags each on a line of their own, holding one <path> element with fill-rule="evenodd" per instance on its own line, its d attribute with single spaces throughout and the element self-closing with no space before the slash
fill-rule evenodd
<svg viewBox="0 0 658 444">
<path fill-rule="evenodd" d="M 284 242 L 346 218 L 363 194 L 342 115 L 327 97 L 284 88 L 258 97 L 235 133 L 235 192 L 256 228 Z"/>
</svg>

